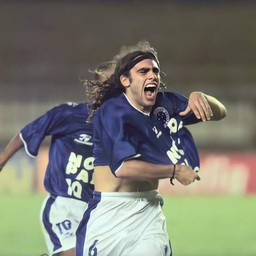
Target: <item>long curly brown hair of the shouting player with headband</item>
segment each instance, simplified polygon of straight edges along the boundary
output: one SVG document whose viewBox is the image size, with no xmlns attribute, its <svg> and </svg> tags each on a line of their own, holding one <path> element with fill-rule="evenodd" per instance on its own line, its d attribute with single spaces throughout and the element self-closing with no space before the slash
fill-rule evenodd
<svg viewBox="0 0 256 256">
<path fill-rule="evenodd" d="M 120 76 L 129 77 L 128 63 L 145 54 L 153 54 L 157 58 L 156 50 L 146 41 L 140 41 L 135 46 L 123 46 L 113 61 L 105 62 L 94 70 L 94 79 L 83 80 L 90 110 L 89 122 L 91 122 L 94 112 L 105 101 L 110 98 L 116 98 L 122 92 L 125 92 L 125 87 L 120 82 Z M 161 82 L 160 86 L 163 87 L 165 85 Z"/>
</svg>

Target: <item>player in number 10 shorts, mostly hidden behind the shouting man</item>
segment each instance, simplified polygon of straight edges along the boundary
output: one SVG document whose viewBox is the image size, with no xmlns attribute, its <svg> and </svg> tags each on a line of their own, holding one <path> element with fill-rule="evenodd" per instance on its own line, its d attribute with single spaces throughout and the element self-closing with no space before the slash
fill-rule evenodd
<svg viewBox="0 0 256 256">
<path fill-rule="evenodd" d="M 95 79 L 106 79 L 111 63 L 94 71 Z M 52 136 L 44 186 L 49 196 L 43 202 L 40 220 L 50 255 L 73 256 L 75 232 L 92 197 L 92 125 L 86 122 L 87 104 L 56 106 L 27 124 L 0 152 L 0 171 L 20 148 L 36 157 L 43 139 Z"/>
</svg>

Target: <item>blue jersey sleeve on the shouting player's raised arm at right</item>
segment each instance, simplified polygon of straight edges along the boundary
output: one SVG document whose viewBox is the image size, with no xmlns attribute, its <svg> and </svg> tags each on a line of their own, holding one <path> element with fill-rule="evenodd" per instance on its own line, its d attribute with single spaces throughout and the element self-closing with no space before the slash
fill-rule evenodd
<svg viewBox="0 0 256 256">
<path fill-rule="evenodd" d="M 192 111 L 186 116 L 179 115 L 180 112 L 184 111 L 187 108 L 189 104 L 188 98 L 184 97 L 182 94 L 169 91 L 164 92 L 164 97 L 170 101 L 172 111 L 171 114 L 173 116 L 179 116 L 180 119 L 183 121 L 183 125 L 190 125 L 201 122 L 201 119 L 198 119 Z"/>
</svg>

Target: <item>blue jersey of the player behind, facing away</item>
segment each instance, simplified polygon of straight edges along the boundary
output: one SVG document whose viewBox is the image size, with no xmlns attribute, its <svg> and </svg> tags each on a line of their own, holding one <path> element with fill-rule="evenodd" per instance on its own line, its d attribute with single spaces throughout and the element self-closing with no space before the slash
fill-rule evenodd
<svg viewBox="0 0 256 256">
<path fill-rule="evenodd" d="M 52 135 L 44 186 L 53 196 L 86 202 L 92 197 L 93 133 L 87 117 L 87 104 L 61 104 L 21 130 L 25 150 L 34 157 L 45 136 Z"/>
</svg>

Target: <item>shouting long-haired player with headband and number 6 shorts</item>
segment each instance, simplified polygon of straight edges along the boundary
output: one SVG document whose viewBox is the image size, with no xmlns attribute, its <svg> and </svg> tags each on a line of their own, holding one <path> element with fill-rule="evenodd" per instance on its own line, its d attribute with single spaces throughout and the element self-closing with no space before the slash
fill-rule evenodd
<svg viewBox="0 0 256 256">
<path fill-rule="evenodd" d="M 200 120 L 210 119 L 211 107 L 202 93 L 194 93 L 195 102 L 178 116 L 169 101 L 169 120 L 162 119 L 158 115 L 164 113 L 158 112 L 162 103 L 155 107 L 159 72 L 152 51 L 128 53 L 91 95 L 90 107 L 97 110 L 93 117 L 95 191 L 77 230 L 77 256 L 171 254 L 157 199 L 158 179 L 169 177 L 172 182 L 175 178 L 183 185 L 200 180 L 188 166 L 196 169 L 199 159 L 183 122 L 196 122 L 194 114 L 187 116 L 194 108 Z M 87 87 L 91 85 L 95 86 L 87 81 Z M 160 94 L 160 102 L 165 104 L 169 96 Z M 213 102 L 213 109 L 221 112 L 221 107 Z M 213 119 L 219 118 L 215 111 L 212 114 Z"/>
</svg>

